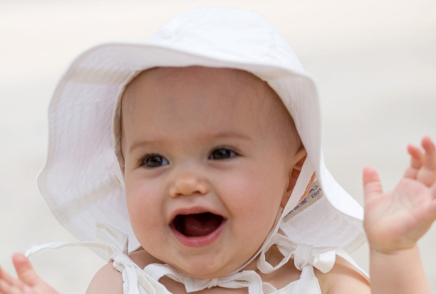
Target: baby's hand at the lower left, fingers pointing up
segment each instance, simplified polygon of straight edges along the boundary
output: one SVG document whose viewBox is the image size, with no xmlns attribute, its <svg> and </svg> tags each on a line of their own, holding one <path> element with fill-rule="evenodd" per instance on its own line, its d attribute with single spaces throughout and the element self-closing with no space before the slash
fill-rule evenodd
<svg viewBox="0 0 436 294">
<path fill-rule="evenodd" d="M 0 268 L 0 294 L 58 294 L 39 278 L 23 254 L 15 253 L 12 261 L 19 278 L 14 278 Z"/>
</svg>

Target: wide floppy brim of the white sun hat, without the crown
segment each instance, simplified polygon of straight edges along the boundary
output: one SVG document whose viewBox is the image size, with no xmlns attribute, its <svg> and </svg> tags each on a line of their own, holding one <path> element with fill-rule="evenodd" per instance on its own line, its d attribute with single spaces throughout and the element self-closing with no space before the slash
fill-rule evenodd
<svg viewBox="0 0 436 294">
<path fill-rule="evenodd" d="M 39 190 L 56 219 L 79 240 L 96 241 L 95 222 L 100 221 L 129 235 L 129 252 L 140 246 L 130 226 L 119 180 L 113 115 L 125 86 L 142 70 L 190 65 L 246 70 L 269 83 L 294 118 L 326 200 L 313 204 L 313 209 L 324 211 L 317 219 L 308 216 L 314 214 L 310 212 L 313 209 L 294 218 L 298 230 L 311 232 L 311 236 L 295 231 L 289 237 L 314 246 L 341 246 L 348 252 L 358 248 L 365 241 L 363 209 L 323 164 L 321 112 L 310 76 L 301 68 L 244 56 L 205 54 L 194 49 L 187 52 L 150 43 L 108 43 L 90 48 L 71 63 L 59 81 L 49 107 L 46 162 L 38 174 Z M 331 229 L 326 229 L 326 222 L 332 224 Z M 340 233 L 331 238 L 335 232 Z"/>
</svg>

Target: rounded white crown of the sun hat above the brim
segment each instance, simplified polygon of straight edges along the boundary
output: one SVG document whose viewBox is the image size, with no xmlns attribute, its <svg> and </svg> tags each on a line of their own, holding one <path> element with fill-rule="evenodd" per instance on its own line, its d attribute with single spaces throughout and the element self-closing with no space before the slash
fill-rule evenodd
<svg viewBox="0 0 436 294">
<path fill-rule="evenodd" d="M 255 11 L 193 9 L 165 23 L 147 43 L 227 61 L 274 64 L 305 73 L 284 37 Z"/>
</svg>

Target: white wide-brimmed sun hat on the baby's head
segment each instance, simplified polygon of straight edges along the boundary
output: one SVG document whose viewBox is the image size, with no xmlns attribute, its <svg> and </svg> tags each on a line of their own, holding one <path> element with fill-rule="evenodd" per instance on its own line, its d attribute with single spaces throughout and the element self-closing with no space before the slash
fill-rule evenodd
<svg viewBox="0 0 436 294">
<path fill-rule="evenodd" d="M 294 118 L 308 157 L 276 230 L 280 226 L 291 241 L 308 246 L 348 253 L 360 247 L 365 242 L 363 209 L 324 165 L 313 80 L 274 26 L 261 14 L 241 9 L 187 11 L 145 43 L 107 43 L 73 61 L 51 100 L 48 154 L 38 175 L 56 219 L 81 241 L 98 241 L 95 224 L 100 222 L 128 235 L 128 252 L 140 246 L 130 226 L 120 169 L 120 98 L 142 70 L 190 65 L 253 73 L 276 91 Z M 297 206 L 313 172 L 316 201 Z"/>
</svg>

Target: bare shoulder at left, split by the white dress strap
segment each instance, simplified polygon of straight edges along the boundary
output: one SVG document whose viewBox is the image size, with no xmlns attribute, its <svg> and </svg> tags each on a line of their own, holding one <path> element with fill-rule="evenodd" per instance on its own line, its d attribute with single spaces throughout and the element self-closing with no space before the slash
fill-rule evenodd
<svg viewBox="0 0 436 294">
<path fill-rule="evenodd" d="M 147 264 L 155 263 L 157 260 L 146 251 L 135 251 L 129 254 L 130 259 L 140 268 Z M 123 275 L 113 267 L 113 261 L 105 264 L 90 281 L 86 294 L 122 294 Z"/>
</svg>

